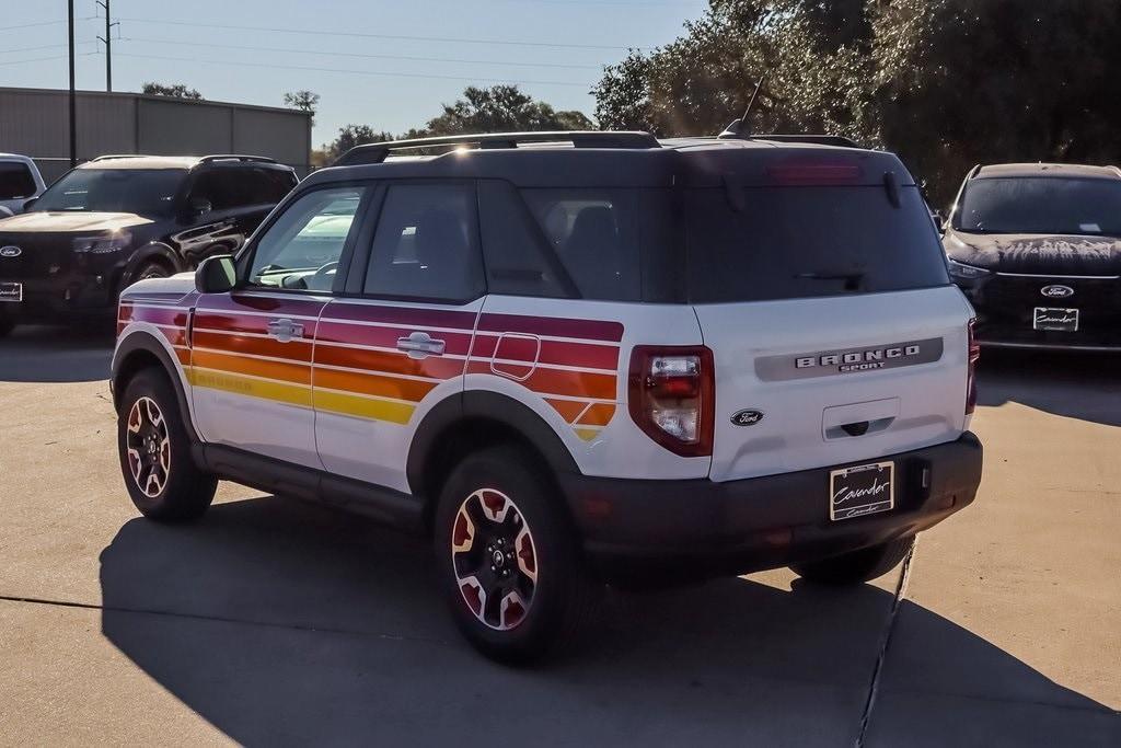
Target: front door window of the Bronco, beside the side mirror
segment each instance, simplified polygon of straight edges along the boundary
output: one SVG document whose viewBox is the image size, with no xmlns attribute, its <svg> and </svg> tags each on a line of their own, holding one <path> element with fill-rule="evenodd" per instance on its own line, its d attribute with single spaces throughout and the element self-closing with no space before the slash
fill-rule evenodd
<svg viewBox="0 0 1121 748">
<path fill-rule="evenodd" d="M 364 191 L 316 190 L 289 205 L 257 242 L 248 284 L 331 290 Z"/>
</svg>

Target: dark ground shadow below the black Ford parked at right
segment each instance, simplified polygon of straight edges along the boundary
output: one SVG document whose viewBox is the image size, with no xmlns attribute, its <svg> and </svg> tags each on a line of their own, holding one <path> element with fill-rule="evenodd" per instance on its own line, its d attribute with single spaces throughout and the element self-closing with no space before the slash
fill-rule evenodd
<svg viewBox="0 0 1121 748">
<path fill-rule="evenodd" d="M 978 404 L 1009 400 L 1068 418 L 1121 426 L 1121 355 L 984 349 Z"/>
</svg>

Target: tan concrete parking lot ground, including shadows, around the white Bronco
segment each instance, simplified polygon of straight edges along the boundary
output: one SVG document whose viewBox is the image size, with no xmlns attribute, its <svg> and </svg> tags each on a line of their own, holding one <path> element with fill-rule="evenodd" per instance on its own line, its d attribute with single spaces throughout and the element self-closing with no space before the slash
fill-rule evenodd
<svg viewBox="0 0 1121 748">
<path fill-rule="evenodd" d="M 452 629 L 424 542 L 121 484 L 111 341 L 0 341 L 0 744 L 1121 745 L 1121 359 L 986 352 L 976 502 L 906 571 L 612 593 L 567 659 Z"/>
</svg>

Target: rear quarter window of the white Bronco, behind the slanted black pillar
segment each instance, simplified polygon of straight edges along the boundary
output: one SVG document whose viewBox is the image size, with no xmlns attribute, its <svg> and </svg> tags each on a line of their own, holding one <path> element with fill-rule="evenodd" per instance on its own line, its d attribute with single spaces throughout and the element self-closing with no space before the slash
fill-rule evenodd
<svg viewBox="0 0 1121 748">
<path fill-rule="evenodd" d="M 530 211 L 582 297 L 641 301 L 638 192 L 522 190 Z"/>
</svg>

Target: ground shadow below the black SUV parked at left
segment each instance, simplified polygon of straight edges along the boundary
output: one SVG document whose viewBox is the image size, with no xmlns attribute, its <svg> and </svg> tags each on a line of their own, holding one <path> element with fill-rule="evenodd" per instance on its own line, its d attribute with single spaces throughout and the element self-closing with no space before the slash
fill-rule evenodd
<svg viewBox="0 0 1121 748">
<path fill-rule="evenodd" d="M 0 339 L 0 381 L 76 382 L 109 378 L 113 326 L 19 326 Z"/>
</svg>

